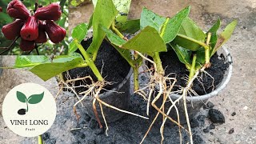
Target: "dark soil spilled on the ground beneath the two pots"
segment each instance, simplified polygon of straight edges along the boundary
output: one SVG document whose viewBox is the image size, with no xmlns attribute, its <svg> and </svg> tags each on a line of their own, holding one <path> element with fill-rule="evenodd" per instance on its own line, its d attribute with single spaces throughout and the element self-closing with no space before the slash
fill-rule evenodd
<svg viewBox="0 0 256 144">
<path fill-rule="evenodd" d="M 68 95 L 63 95 L 63 99 L 69 98 Z M 141 142 L 146 130 L 150 126 L 150 123 L 154 119 L 154 111 L 150 110 L 150 120 L 143 118 L 138 118 L 130 114 L 126 114 L 124 117 L 119 119 L 116 122 L 108 123 L 109 136 L 106 136 L 105 130 L 106 126 L 103 126 L 103 129 L 100 129 L 98 122 L 93 118 L 90 118 L 89 115 L 83 110 L 83 107 L 78 105 L 77 110 L 81 112 L 81 118 L 78 122 L 73 112 L 73 104 L 75 100 L 70 100 L 70 102 L 58 102 L 58 114 L 54 122 L 54 126 L 43 134 L 42 138 L 46 143 L 56 143 L 63 144 L 73 144 L 73 143 L 88 143 L 88 144 L 130 144 L 130 143 L 139 143 Z M 144 99 L 138 95 L 131 95 L 130 97 L 130 107 L 131 112 L 136 114 L 145 115 L 146 114 L 146 102 Z M 201 144 L 205 143 L 202 139 L 202 133 L 200 126 L 204 126 L 204 119 L 206 116 L 200 115 L 199 118 L 195 118 L 195 121 L 198 121 L 198 126 L 192 128 L 194 135 L 194 143 Z M 200 121 L 199 121 L 200 120 Z M 102 123 L 103 124 L 103 123 Z M 160 126 L 162 124 L 162 116 L 158 117 L 158 121 L 155 122 L 154 126 L 150 130 L 148 137 L 143 143 L 160 143 L 161 135 L 159 132 Z M 82 128 L 81 130 L 70 130 L 71 128 Z M 186 127 L 186 126 L 185 126 Z M 164 144 L 176 144 L 179 143 L 179 134 L 178 126 L 171 126 L 170 122 L 166 123 L 164 129 Z M 182 143 L 189 142 L 189 135 L 185 130 L 182 130 Z"/>
</svg>

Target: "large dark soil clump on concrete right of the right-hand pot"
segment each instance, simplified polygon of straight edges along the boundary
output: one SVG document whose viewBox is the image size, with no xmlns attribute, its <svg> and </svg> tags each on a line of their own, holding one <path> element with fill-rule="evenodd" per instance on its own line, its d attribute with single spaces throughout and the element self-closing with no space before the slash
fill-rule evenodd
<svg viewBox="0 0 256 144">
<path fill-rule="evenodd" d="M 225 117 L 219 110 L 210 109 L 209 110 L 209 118 L 213 123 L 225 123 Z"/>
</svg>

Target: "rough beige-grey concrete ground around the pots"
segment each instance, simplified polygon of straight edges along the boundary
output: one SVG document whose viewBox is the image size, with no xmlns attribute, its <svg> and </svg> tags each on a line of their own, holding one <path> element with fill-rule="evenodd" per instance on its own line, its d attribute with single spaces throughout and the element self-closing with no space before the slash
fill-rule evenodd
<svg viewBox="0 0 256 144">
<path fill-rule="evenodd" d="M 214 108 L 222 111 L 226 122 L 211 130 L 212 133 L 203 134 L 203 139 L 206 143 L 256 143 L 256 0 L 134 0 L 129 17 L 139 18 L 143 6 L 158 14 L 172 16 L 188 5 L 191 6 L 190 18 L 204 30 L 210 28 L 217 18 L 222 19 L 223 25 L 234 18 L 238 19 L 238 26 L 225 45 L 234 61 L 232 78 L 221 94 L 210 99 Z M 78 23 L 88 22 L 92 10 L 92 5 L 70 9 L 70 30 Z M 10 66 L 12 62 L 14 57 L 3 57 L 4 66 Z M 0 105 L 7 92 L 22 82 L 39 83 L 46 86 L 52 94 L 57 92 L 54 78 L 43 82 L 26 70 L 3 70 L 0 75 Z M 233 112 L 236 114 L 231 116 Z M 229 134 L 232 128 L 234 133 Z M 36 143 L 36 138 L 22 138 L 12 133 L 2 121 L 1 112 L 0 143 Z"/>
</svg>

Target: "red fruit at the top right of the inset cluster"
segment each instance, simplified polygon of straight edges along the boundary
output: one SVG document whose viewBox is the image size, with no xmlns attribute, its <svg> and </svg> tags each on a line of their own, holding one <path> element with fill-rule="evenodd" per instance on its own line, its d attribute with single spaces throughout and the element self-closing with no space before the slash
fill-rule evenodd
<svg viewBox="0 0 256 144">
<path fill-rule="evenodd" d="M 58 3 L 52 3 L 49 6 L 38 8 L 34 16 L 40 20 L 57 21 L 62 15 L 61 6 Z"/>
</svg>

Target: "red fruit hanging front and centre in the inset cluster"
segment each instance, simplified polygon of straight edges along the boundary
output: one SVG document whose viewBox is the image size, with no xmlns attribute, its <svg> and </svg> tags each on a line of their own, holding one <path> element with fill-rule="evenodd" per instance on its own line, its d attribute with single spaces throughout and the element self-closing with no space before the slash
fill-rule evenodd
<svg viewBox="0 0 256 144">
<path fill-rule="evenodd" d="M 21 36 L 27 41 L 34 41 L 38 38 L 38 19 L 31 16 L 27 18 L 25 25 L 22 27 Z"/>
</svg>

